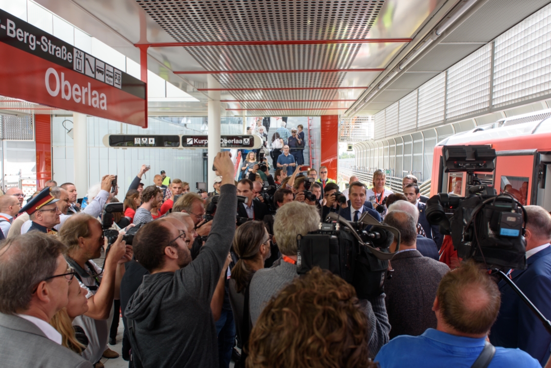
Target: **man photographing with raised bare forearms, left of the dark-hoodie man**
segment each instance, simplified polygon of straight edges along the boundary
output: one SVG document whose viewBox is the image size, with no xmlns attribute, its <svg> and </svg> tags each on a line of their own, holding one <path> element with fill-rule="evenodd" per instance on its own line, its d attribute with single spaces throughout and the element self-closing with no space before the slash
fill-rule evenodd
<svg viewBox="0 0 551 368">
<path fill-rule="evenodd" d="M 107 348 L 110 324 L 106 320 L 113 306 L 115 285 L 120 285 L 125 273 L 124 263 L 132 259 L 132 246 L 126 245 L 119 235 L 100 268 L 92 261 L 101 257 L 104 246 L 103 230 L 97 219 L 85 213 L 69 216 L 59 235 L 68 247 L 67 264 L 77 272 L 80 286 L 88 291 L 88 312 L 74 320 L 74 324 L 84 329 L 89 340 L 82 356 L 94 364 L 102 356 L 117 358 L 118 354 Z M 118 318 L 118 311 L 115 313 Z"/>
</svg>

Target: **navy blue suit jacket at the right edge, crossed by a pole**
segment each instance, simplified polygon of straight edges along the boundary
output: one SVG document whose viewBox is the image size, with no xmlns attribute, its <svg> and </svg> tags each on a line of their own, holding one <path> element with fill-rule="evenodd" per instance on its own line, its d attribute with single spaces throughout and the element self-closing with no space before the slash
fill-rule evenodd
<svg viewBox="0 0 551 368">
<path fill-rule="evenodd" d="M 525 270 L 511 273 L 512 281 L 546 318 L 551 318 L 551 247 L 526 260 Z M 528 306 L 503 280 L 499 283 L 501 307 L 491 328 L 490 342 L 496 347 L 519 348 L 545 365 L 551 335 Z"/>
</svg>

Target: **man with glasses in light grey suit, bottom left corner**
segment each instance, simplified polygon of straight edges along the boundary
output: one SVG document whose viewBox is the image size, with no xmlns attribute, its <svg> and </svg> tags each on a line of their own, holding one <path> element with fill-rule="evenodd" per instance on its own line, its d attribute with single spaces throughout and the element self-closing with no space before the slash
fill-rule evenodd
<svg viewBox="0 0 551 368">
<path fill-rule="evenodd" d="M 65 249 L 56 237 L 39 232 L 0 243 L 2 366 L 92 367 L 63 347 L 61 334 L 48 323 L 68 302 L 73 272 L 63 259 Z"/>
</svg>

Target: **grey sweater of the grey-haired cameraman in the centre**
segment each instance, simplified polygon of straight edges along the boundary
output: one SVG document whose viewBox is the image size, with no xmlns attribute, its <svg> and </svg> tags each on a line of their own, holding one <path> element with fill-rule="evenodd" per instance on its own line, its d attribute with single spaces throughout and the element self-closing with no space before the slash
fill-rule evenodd
<svg viewBox="0 0 551 368">
<path fill-rule="evenodd" d="M 274 263 L 275 264 L 275 263 Z M 279 290 L 293 282 L 298 277 L 296 266 L 288 262 L 281 262 L 272 268 L 263 268 L 255 272 L 252 277 L 249 295 L 249 308 L 252 324 L 256 324 L 264 305 L 277 295 Z M 374 297 L 372 300 L 361 300 L 361 306 L 368 317 L 369 355 L 375 358 L 382 345 L 388 343 L 390 324 L 385 309 L 385 294 Z"/>
</svg>

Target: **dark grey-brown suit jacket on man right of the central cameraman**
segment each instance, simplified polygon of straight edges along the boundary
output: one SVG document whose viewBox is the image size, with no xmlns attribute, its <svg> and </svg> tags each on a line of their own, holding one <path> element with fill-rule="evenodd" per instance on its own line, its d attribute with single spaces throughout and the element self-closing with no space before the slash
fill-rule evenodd
<svg viewBox="0 0 551 368">
<path fill-rule="evenodd" d="M 417 336 L 427 328 L 436 328 L 433 312 L 436 289 L 450 268 L 423 257 L 417 250 L 397 253 L 390 263 L 394 272 L 385 280 L 389 337 Z"/>
</svg>

